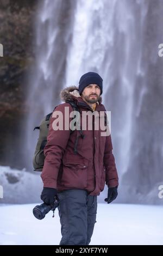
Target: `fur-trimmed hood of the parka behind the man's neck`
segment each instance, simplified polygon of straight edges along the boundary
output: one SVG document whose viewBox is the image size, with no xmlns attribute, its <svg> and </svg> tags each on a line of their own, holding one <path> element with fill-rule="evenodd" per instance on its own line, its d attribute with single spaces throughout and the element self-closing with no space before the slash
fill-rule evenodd
<svg viewBox="0 0 163 256">
<path fill-rule="evenodd" d="M 68 102 L 74 99 L 77 100 L 77 98 L 82 99 L 82 97 L 79 94 L 79 90 L 77 86 L 70 86 L 62 89 L 60 93 L 60 97 L 61 97 L 61 100 L 64 102 Z M 101 104 L 101 102 L 102 102 L 102 97 L 100 96 L 98 103 Z"/>
</svg>

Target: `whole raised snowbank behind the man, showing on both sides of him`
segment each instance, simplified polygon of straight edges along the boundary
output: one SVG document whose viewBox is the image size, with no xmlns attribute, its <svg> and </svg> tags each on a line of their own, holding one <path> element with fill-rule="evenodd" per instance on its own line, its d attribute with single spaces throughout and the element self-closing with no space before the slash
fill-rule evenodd
<svg viewBox="0 0 163 256">
<path fill-rule="evenodd" d="M 163 199 L 158 196 L 159 186 L 162 184 L 163 181 L 160 181 L 153 184 L 153 188 L 148 193 L 146 191 L 140 193 L 130 185 L 121 185 L 120 182 L 118 197 L 114 203 L 162 205 Z M 31 204 L 40 200 L 43 183 L 38 172 L 0 166 L 0 186 L 3 187 L 3 199 L 0 200 L 0 204 Z M 2 187 L 0 187 L 0 198 Z M 105 186 L 104 191 L 98 196 L 98 203 L 104 203 L 107 194 L 108 187 Z"/>
</svg>

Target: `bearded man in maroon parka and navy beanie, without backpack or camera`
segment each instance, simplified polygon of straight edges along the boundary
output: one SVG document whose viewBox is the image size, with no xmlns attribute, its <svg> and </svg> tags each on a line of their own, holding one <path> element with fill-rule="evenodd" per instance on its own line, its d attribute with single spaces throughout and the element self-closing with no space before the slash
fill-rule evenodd
<svg viewBox="0 0 163 256">
<path fill-rule="evenodd" d="M 57 106 L 54 112 L 60 111 L 65 120 L 65 107 L 73 111 L 68 103 L 73 101 L 79 108 L 82 124 L 83 112 L 104 113 L 102 92 L 101 76 L 87 72 L 80 78 L 79 87 L 62 90 L 61 99 L 65 103 Z M 100 115 L 92 115 L 92 129 L 83 129 L 82 134 L 77 129 L 72 133 L 71 129 L 54 131 L 56 117 L 49 123 L 41 199 L 51 205 L 55 196 L 59 198 L 60 245 L 89 245 L 96 223 L 97 196 L 104 190 L 105 182 L 108 185 L 105 201 L 111 203 L 117 197 L 118 175 L 111 136 L 101 136 L 101 127 L 95 129 L 100 118 Z M 72 119 L 70 117 L 68 123 Z"/>
</svg>

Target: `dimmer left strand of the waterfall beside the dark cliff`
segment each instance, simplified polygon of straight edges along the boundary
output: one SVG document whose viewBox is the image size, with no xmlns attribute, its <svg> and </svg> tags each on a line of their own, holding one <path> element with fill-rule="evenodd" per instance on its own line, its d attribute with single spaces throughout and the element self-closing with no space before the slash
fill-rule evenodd
<svg viewBox="0 0 163 256">
<path fill-rule="evenodd" d="M 38 137 L 35 126 L 60 103 L 60 90 L 65 84 L 67 51 L 71 45 L 74 1 L 41 1 L 35 21 L 35 65 L 29 78 L 26 123 L 27 169 L 33 169 L 32 158 Z"/>
</svg>

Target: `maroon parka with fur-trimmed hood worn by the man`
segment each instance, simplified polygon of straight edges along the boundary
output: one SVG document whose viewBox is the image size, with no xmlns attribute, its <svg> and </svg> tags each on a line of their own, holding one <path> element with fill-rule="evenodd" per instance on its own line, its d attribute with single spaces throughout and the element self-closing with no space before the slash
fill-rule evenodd
<svg viewBox="0 0 163 256">
<path fill-rule="evenodd" d="M 63 117 L 63 127 L 65 127 L 65 114 L 73 111 L 72 106 L 67 103 L 74 101 L 80 110 L 80 126 L 82 127 L 82 112 L 92 111 L 91 107 L 80 97 L 78 88 L 68 87 L 62 90 L 61 99 L 65 101 L 58 105 L 55 111 L 60 111 Z M 105 108 L 100 97 L 96 111 L 104 113 Z M 66 112 L 65 112 L 65 107 Z M 53 113 L 54 113 L 53 112 Z M 55 112 L 57 113 L 57 112 Z M 98 196 L 104 190 L 104 185 L 109 187 L 118 186 L 118 175 L 114 155 L 112 154 L 111 135 L 101 136 L 103 132 L 100 127 L 95 129 L 95 123 L 99 122 L 100 114 L 92 118 L 92 129 L 83 130 L 84 138 L 79 130 L 70 133 L 70 129 L 53 129 L 53 121 L 58 117 L 52 117 L 49 123 L 47 144 L 44 149 L 45 163 L 41 178 L 44 187 L 57 188 L 63 191 L 68 189 L 87 190 L 90 195 Z M 72 117 L 66 119 L 68 126 Z M 68 121 L 67 121 L 68 120 Z M 67 125 L 66 125 L 67 127 Z M 77 142 L 77 154 L 74 153 L 74 145 Z"/>
</svg>

